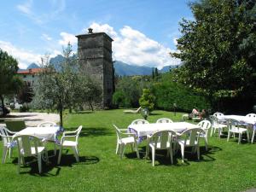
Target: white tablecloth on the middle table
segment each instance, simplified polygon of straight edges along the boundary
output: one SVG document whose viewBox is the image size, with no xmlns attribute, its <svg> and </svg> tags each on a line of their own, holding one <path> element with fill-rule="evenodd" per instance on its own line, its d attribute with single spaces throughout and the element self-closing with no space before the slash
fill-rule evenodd
<svg viewBox="0 0 256 192">
<path fill-rule="evenodd" d="M 175 123 L 161 123 L 161 124 L 139 124 L 139 125 L 129 125 L 128 129 L 137 132 L 137 137 L 147 136 L 154 133 L 155 131 L 185 131 L 191 128 L 200 128 L 198 125 L 189 124 L 187 122 L 175 122 Z"/>
</svg>

